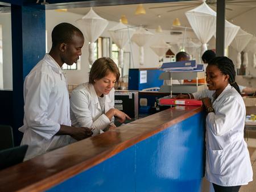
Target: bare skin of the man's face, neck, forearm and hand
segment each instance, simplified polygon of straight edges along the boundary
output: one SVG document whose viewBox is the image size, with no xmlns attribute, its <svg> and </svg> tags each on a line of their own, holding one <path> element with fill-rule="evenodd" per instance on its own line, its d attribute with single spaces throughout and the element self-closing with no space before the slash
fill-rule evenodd
<svg viewBox="0 0 256 192">
<path fill-rule="evenodd" d="M 51 48 L 49 55 L 59 64 L 63 66 L 64 63 L 67 65 L 73 65 L 74 62 L 79 60 L 79 56 L 82 55 L 81 49 L 84 45 L 84 36 L 78 32 L 74 32 L 71 41 L 68 43 L 60 43 L 55 47 Z M 87 127 L 71 127 L 60 125 L 60 130 L 56 135 L 70 135 L 76 140 L 82 140 L 92 136 L 93 132 Z"/>
</svg>

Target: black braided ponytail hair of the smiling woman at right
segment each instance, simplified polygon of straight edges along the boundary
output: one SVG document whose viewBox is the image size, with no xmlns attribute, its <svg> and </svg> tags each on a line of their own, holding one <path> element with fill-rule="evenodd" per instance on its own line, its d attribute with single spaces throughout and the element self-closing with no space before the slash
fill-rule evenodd
<svg viewBox="0 0 256 192">
<path fill-rule="evenodd" d="M 229 75 L 229 84 L 233 86 L 239 94 L 241 94 L 239 86 L 236 82 L 236 71 L 234 69 L 234 64 L 228 57 L 215 57 L 210 60 L 208 65 L 215 65 L 220 69 L 221 73 Z"/>
</svg>

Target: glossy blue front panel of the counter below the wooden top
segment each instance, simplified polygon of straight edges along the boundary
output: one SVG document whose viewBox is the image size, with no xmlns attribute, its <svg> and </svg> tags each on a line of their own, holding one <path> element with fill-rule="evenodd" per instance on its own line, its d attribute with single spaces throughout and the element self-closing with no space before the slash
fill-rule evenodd
<svg viewBox="0 0 256 192">
<path fill-rule="evenodd" d="M 203 119 L 200 112 L 48 191 L 200 191 Z"/>
</svg>

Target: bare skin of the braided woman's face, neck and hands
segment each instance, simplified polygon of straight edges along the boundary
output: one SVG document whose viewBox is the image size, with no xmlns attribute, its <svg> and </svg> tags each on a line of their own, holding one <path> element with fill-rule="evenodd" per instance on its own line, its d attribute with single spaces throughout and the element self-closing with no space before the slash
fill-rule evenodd
<svg viewBox="0 0 256 192">
<path fill-rule="evenodd" d="M 209 90 L 216 90 L 216 98 L 222 93 L 225 87 L 229 84 L 229 75 L 223 74 L 220 69 L 216 65 L 208 65 L 206 69 L 206 81 Z M 177 95 L 175 97 L 177 99 L 188 99 L 188 95 Z M 193 95 L 191 94 L 191 98 L 193 99 Z M 206 108 L 212 107 L 212 102 L 208 97 L 202 98 L 204 106 Z"/>
</svg>

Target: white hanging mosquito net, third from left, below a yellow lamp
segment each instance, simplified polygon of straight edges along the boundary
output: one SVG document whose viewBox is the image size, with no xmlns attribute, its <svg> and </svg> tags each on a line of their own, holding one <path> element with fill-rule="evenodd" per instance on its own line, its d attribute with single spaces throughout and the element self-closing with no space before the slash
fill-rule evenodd
<svg viewBox="0 0 256 192">
<path fill-rule="evenodd" d="M 131 40 L 134 41 L 139 46 L 139 64 L 144 64 L 144 48 L 143 46 L 150 41 L 150 39 L 154 36 L 151 32 L 145 30 L 140 27 L 137 31 L 134 32 Z"/>
</svg>

